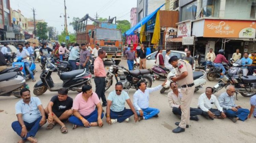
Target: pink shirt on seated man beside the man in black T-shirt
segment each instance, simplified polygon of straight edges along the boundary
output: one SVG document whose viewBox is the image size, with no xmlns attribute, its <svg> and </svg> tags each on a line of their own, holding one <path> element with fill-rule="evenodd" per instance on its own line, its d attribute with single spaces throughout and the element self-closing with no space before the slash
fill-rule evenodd
<svg viewBox="0 0 256 143">
<path fill-rule="evenodd" d="M 96 107 L 96 104 L 100 103 L 98 95 L 93 92 L 87 102 L 82 97 L 82 92 L 77 94 L 73 102 L 73 109 L 78 110 L 78 112 L 83 116 L 88 116 L 91 114 Z"/>
</svg>

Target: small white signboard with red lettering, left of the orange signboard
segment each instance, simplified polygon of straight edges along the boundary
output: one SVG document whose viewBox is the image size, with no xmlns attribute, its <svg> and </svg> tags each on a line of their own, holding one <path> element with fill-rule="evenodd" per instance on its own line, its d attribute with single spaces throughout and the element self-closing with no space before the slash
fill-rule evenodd
<svg viewBox="0 0 256 143">
<path fill-rule="evenodd" d="M 191 36 L 191 20 L 176 23 L 177 37 L 190 37 Z"/>
</svg>

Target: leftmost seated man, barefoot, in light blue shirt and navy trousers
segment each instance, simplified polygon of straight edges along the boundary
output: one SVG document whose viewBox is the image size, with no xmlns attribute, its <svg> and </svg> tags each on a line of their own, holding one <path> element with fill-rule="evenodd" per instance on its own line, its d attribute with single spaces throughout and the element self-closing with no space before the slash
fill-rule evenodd
<svg viewBox="0 0 256 143">
<path fill-rule="evenodd" d="M 46 122 L 44 108 L 40 99 L 31 97 L 27 88 L 20 90 L 20 97 L 22 100 L 15 105 L 18 121 L 12 123 L 12 128 L 22 137 L 18 143 L 25 143 L 27 140 L 36 143 L 34 136 Z"/>
</svg>

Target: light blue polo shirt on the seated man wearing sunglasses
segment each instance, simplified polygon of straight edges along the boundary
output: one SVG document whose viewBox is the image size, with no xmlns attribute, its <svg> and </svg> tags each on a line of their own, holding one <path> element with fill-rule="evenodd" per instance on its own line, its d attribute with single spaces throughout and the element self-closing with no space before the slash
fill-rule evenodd
<svg viewBox="0 0 256 143">
<path fill-rule="evenodd" d="M 108 100 L 112 101 L 110 109 L 114 112 L 120 112 L 125 109 L 125 102 L 127 99 L 130 99 L 127 92 L 122 91 L 120 95 L 116 94 L 116 91 L 109 93 Z"/>
</svg>

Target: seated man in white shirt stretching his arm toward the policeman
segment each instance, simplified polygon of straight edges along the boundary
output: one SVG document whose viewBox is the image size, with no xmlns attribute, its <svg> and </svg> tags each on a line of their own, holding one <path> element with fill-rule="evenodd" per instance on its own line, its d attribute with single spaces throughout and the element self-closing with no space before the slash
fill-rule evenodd
<svg viewBox="0 0 256 143">
<path fill-rule="evenodd" d="M 149 94 L 160 90 L 165 83 L 166 81 L 162 85 L 154 88 L 147 88 L 144 81 L 139 81 L 137 83 L 139 89 L 133 94 L 133 105 L 137 110 L 137 114 L 140 116 L 139 121 L 158 117 L 158 113 L 160 112 L 159 109 L 149 107 Z"/>
</svg>

